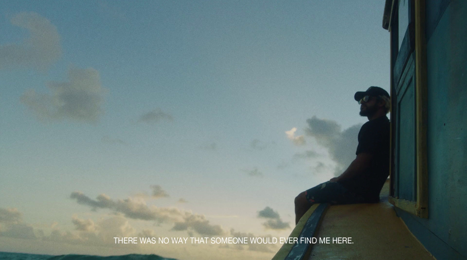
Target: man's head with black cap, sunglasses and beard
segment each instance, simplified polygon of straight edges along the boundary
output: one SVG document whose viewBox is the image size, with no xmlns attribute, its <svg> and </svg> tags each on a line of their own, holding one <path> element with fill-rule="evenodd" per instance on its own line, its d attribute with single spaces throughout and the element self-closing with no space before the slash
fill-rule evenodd
<svg viewBox="0 0 467 260">
<path fill-rule="evenodd" d="M 369 87 L 367 91 L 355 93 L 354 98 L 360 104 L 360 116 L 371 119 L 376 114 L 385 115 L 389 112 L 389 94 L 382 88 Z"/>
</svg>

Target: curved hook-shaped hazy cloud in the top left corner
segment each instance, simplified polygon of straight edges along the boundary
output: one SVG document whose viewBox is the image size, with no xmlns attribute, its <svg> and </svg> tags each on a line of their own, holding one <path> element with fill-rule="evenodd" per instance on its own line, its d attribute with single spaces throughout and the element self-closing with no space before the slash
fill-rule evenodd
<svg viewBox="0 0 467 260">
<path fill-rule="evenodd" d="M 0 69 L 26 67 L 46 72 L 61 57 L 60 35 L 48 19 L 34 12 L 22 12 L 10 22 L 27 29 L 29 37 L 19 44 L 0 46 Z"/>
</svg>

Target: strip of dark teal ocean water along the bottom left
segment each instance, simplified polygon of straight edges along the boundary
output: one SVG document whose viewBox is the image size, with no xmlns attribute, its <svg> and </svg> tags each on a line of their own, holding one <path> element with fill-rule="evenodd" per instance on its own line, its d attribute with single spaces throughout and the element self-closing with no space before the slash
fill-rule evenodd
<svg viewBox="0 0 467 260">
<path fill-rule="evenodd" d="M 176 260 L 155 254 L 126 254 L 116 256 L 97 256 L 83 254 L 47 255 L 31 253 L 0 252 L 0 260 Z"/>
</svg>

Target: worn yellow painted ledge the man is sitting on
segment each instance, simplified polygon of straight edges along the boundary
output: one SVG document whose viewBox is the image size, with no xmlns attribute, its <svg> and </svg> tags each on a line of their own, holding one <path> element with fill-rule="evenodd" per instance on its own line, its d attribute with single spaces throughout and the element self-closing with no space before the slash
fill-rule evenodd
<svg viewBox="0 0 467 260">
<path fill-rule="evenodd" d="M 387 190 L 383 188 L 384 190 Z M 381 196 L 386 197 L 386 191 Z M 434 260 L 387 202 L 332 205 L 317 238 L 352 237 L 353 244 L 315 244 L 311 260 Z M 318 240 L 319 242 L 319 240 Z M 303 258 L 307 260 L 308 258 Z"/>
</svg>

